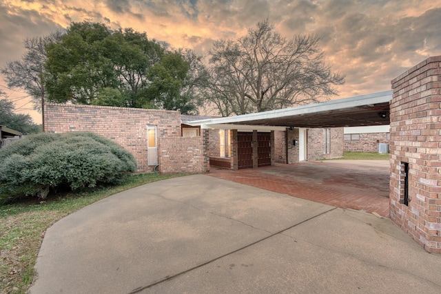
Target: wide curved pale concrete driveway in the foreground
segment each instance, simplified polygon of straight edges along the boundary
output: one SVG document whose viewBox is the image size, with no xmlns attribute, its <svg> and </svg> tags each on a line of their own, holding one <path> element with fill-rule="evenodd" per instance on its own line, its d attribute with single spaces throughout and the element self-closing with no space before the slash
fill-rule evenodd
<svg viewBox="0 0 441 294">
<path fill-rule="evenodd" d="M 391 220 L 206 175 L 48 229 L 31 293 L 441 293 L 441 256 Z"/>
</svg>

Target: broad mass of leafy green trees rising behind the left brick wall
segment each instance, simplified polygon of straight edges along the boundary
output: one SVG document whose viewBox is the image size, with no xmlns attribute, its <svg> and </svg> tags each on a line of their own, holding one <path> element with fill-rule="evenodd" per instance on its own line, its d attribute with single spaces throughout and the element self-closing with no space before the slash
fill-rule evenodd
<svg viewBox="0 0 441 294">
<path fill-rule="evenodd" d="M 187 62 L 145 33 L 72 23 L 61 41 L 46 49 L 50 101 L 197 112 L 184 90 Z"/>
</svg>

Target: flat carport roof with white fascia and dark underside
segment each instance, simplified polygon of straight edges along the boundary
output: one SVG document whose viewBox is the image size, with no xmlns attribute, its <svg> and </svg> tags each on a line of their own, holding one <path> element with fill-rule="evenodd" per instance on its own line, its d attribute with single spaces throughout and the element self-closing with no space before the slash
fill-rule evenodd
<svg viewBox="0 0 441 294">
<path fill-rule="evenodd" d="M 392 91 L 331 100 L 294 108 L 244 114 L 224 118 L 194 120 L 189 125 L 203 128 L 232 129 L 228 125 L 260 125 L 276 127 L 357 127 L 389 125 L 389 101 Z"/>
</svg>

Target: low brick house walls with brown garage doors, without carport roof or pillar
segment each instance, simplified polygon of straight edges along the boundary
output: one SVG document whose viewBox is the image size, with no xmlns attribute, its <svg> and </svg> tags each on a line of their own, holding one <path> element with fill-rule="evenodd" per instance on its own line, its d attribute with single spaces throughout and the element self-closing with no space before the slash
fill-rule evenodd
<svg viewBox="0 0 441 294">
<path fill-rule="evenodd" d="M 134 155 L 139 172 L 202 173 L 209 165 L 242 169 L 342 156 L 342 128 L 203 129 L 192 124 L 205 119 L 157 109 L 45 105 L 46 132 L 94 132 L 110 138 Z"/>
</svg>

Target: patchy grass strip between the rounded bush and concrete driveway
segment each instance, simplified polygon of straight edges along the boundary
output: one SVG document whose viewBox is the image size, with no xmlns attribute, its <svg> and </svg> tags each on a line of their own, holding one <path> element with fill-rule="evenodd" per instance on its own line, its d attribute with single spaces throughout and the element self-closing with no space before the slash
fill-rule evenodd
<svg viewBox="0 0 441 294">
<path fill-rule="evenodd" d="M 46 229 L 68 214 L 112 194 L 183 174 L 136 174 L 123 184 L 0 205 L 0 293 L 26 293 Z"/>
</svg>

